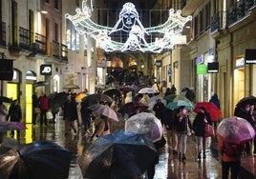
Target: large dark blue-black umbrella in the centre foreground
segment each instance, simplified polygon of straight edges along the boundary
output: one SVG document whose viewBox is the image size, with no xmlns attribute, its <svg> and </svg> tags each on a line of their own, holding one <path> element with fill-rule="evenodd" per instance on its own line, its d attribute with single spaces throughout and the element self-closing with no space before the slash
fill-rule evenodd
<svg viewBox="0 0 256 179">
<path fill-rule="evenodd" d="M 128 178 L 140 176 L 158 157 L 145 136 L 125 131 L 99 137 L 79 158 L 85 178 Z"/>
</svg>

